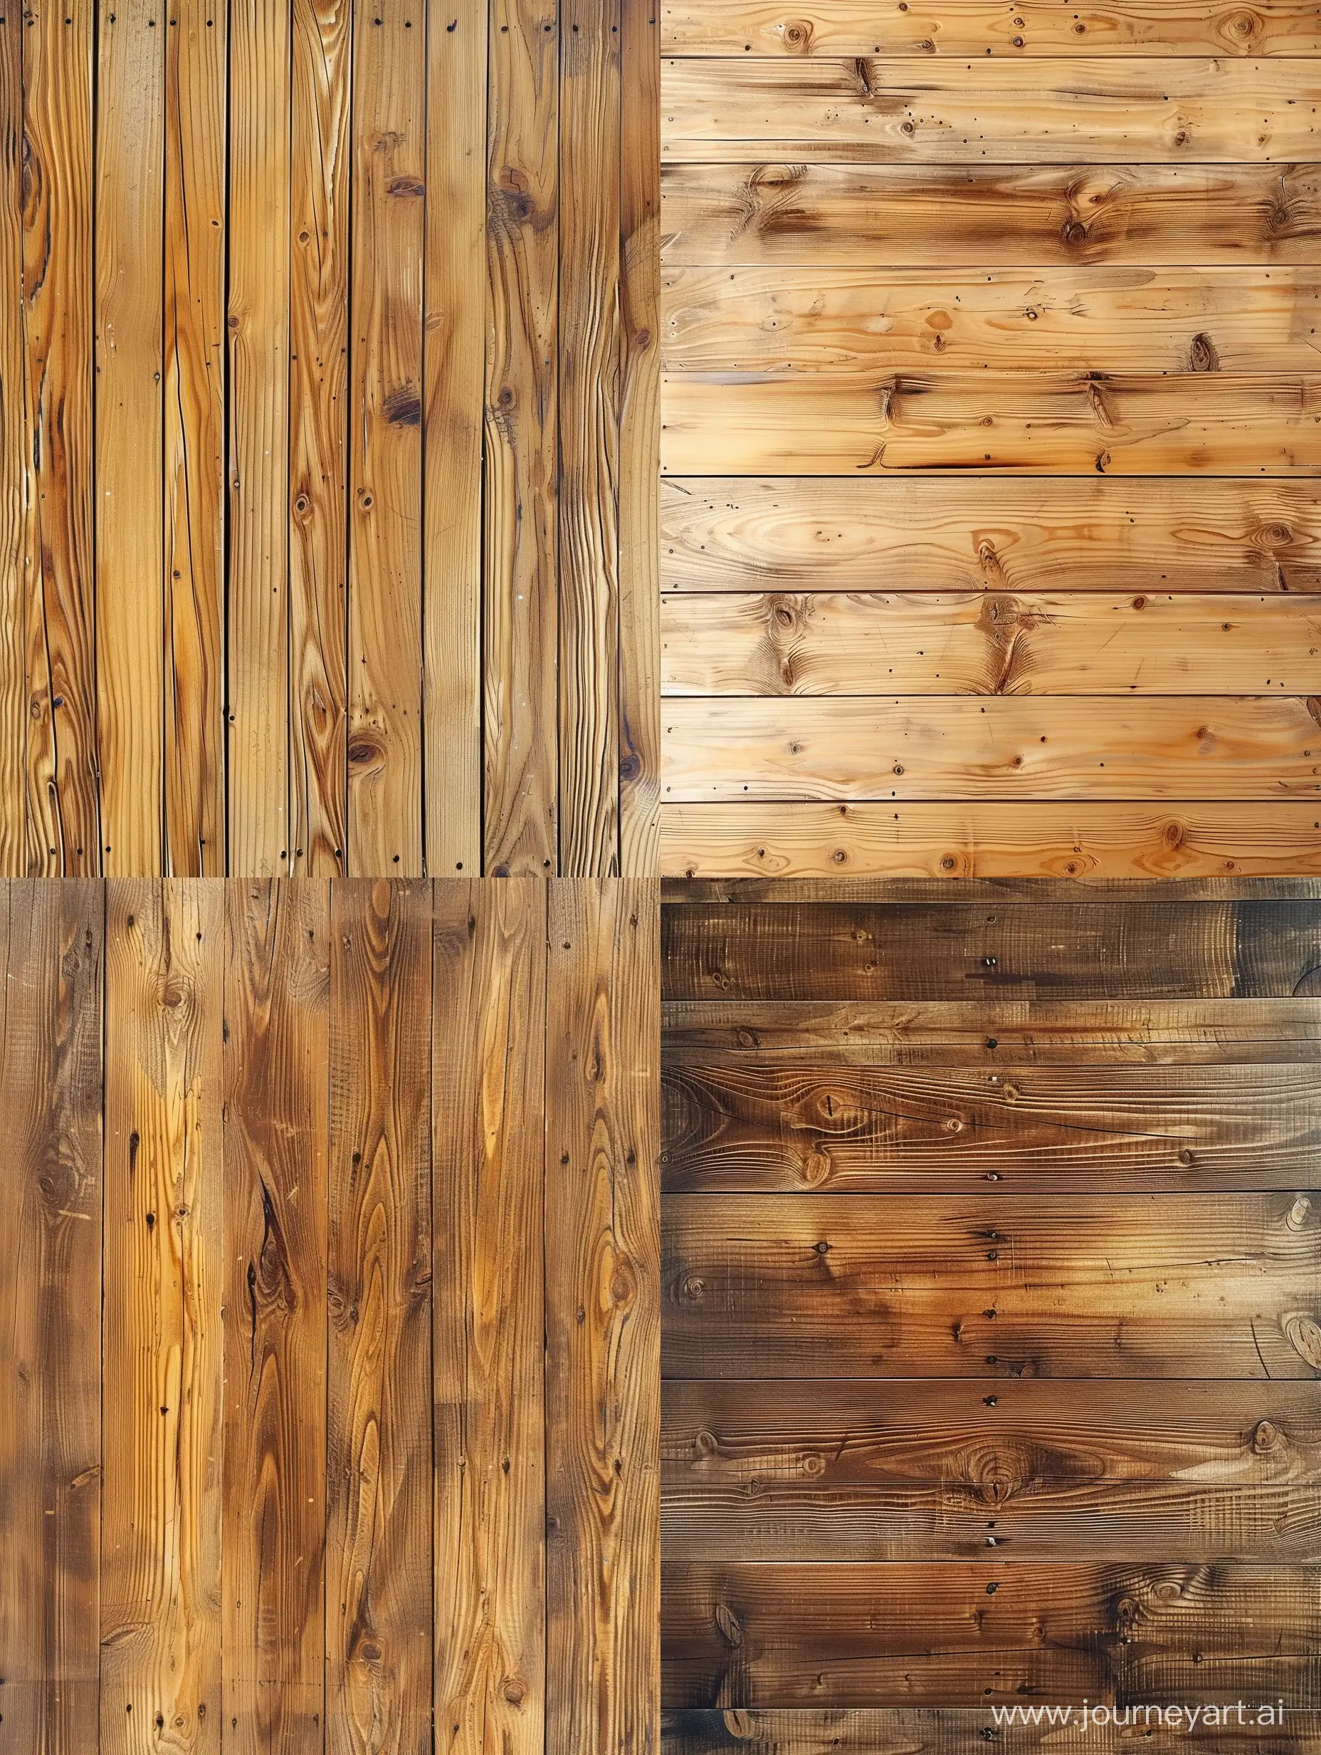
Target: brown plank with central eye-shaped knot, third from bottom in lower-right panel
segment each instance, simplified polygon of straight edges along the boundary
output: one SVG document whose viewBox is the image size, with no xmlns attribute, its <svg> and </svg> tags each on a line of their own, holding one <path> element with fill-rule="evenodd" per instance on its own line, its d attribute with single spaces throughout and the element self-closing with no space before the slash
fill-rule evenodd
<svg viewBox="0 0 1321 1755">
<path fill-rule="evenodd" d="M 1307 1385 L 668 1383 L 667 1560 L 1312 1562 Z"/>
</svg>

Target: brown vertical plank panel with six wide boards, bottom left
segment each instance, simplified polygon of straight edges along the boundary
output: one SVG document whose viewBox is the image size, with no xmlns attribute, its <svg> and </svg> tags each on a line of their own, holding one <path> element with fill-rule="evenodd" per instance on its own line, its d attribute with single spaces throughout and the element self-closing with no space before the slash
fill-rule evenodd
<svg viewBox="0 0 1321 1755">
<path fill-rule="evenodd" d="M 656 1748 L 656 881 L 14 879 L 0 956 L 0 1750 Z"/>
</svg>

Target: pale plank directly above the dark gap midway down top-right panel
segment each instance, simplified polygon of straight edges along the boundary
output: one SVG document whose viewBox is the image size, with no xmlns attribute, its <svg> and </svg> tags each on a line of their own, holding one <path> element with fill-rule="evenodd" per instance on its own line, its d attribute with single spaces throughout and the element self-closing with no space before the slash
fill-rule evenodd
<svg viewBox="0 0 1321 1755">
<path fill-rule="evenodd" d="M 661 469 L 1065 476 L 1321 474 L 1321 376 L 670 372 Z"/>
</svg>

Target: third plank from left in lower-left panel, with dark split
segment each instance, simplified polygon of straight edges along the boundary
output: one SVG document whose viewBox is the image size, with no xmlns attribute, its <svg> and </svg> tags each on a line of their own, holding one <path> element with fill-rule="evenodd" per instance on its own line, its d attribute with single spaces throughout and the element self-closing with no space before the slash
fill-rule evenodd
<svg viewBox="0 0 1321 1755">
<path fill-rule="evenodd" d="M 225 1748 L 325 1727 L 330 890 L 226 885 Z"/>
</svg>

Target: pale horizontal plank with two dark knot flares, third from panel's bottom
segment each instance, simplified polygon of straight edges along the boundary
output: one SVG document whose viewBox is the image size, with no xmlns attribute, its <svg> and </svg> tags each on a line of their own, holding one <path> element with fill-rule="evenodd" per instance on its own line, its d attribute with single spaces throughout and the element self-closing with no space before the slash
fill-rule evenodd
<svg viewBox="0 0 1321 1755">
<path fill-rule="evenodd" d="M 661 600 L 665 695 L 1321 693 L 1321 598 L 744 591 Z"/>
</svg>

